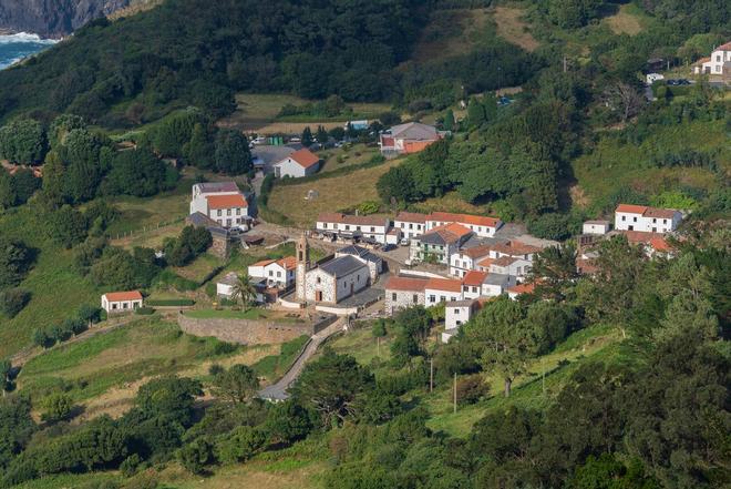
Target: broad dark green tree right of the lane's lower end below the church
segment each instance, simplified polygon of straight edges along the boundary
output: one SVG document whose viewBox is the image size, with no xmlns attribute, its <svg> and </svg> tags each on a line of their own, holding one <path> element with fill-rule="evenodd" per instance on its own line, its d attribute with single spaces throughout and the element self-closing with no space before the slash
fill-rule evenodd
<svg viewBox="0 0 731 489">
<path fill-rule="evenodd" d="M 349 355 L 327 348 L 309 364 L 291 388 L 292 398 L 315 409 L 323 426 L 341 424 L 356 414 L 357 399 L 374 385 L 373 375 Z"/>
</svg>

